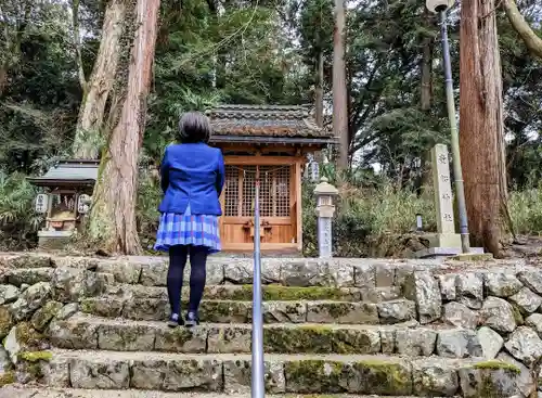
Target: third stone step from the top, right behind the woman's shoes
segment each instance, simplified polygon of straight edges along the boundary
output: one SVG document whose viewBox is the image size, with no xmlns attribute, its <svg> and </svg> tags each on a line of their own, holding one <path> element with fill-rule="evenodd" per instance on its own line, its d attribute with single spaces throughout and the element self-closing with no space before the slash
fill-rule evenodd
<svg viewBox="0 0 542 398">
<path fill-rule="evenodd" d="M 114 296 L 83 298 L 81 311 L 106 318 L 163 321 L 169 314 L 169 303 L 163 298 L 126 298 Z M 186 308 L 185 303 L 183 308 Z M 203 322 L 249 323 L 251 301 L 206 300 L 199 307 Z M 333 300 L 263 301 L 266 323 L 353 323 L 392 324 L 416 318 L 416 306 L 408 299 L 382 303 Z"/>
</svg>

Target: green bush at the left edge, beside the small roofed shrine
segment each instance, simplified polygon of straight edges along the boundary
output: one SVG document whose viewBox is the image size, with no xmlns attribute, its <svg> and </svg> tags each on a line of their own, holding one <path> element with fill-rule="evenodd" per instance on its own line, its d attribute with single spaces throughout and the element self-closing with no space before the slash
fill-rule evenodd
<svg viewBox="0 0 542 398">
<path fill-rule="evenodd" d="M 0 170 L 0 251 L 27 249 L 38 243 L 43 218 L 34 211 L 36 194 L 26 176 Z"/>
</svg>

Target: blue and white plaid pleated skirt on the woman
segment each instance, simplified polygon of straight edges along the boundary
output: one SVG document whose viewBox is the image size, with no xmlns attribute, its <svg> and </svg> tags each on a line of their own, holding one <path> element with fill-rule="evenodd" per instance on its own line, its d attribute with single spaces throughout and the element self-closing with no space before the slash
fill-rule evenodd
<svg viewBox="0 0 542 398">
<path fill-rule="evenodd" d="M 175 245 L 204 246 L 209 254 L 220 252 L 218 217 L 192 215 L 190 206 L 183 215 L 163 213 L 154 249 L 168 252 Z"/>
</svg>

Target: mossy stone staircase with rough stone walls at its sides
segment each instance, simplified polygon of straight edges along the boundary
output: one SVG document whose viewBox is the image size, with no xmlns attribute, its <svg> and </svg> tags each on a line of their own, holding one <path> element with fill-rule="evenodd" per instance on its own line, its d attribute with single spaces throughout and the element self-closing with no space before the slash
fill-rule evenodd
<svg viewBox="0 0 542 398">
<path fill-rule="evenodd" d="M 209 261 L 193 330 L 165 324 L 164 258 L 4 255 L 0 266 L 0 398 L 249 396 L 250 259 Z M 538 268 L 287 258 L 262 268 L 270 395 L 537 396 Z"/>
</svg>

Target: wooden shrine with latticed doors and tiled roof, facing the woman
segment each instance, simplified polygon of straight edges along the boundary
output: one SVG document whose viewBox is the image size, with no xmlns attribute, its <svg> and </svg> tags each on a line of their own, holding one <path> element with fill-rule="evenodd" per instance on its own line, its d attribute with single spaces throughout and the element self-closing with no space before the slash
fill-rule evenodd
<svg viewBox="0 0 542 398">
<path fill-rule="evenodd" d="M 301 176 L 307 154 L 336 139 L 305 106 L 221 105 L 207 112 L 211 144 L 225 163 L 220 235 L 228 252 L 254 248 L 254 198 L 260 181 L 262 251 L 302 248 Z"/>
</svg>

